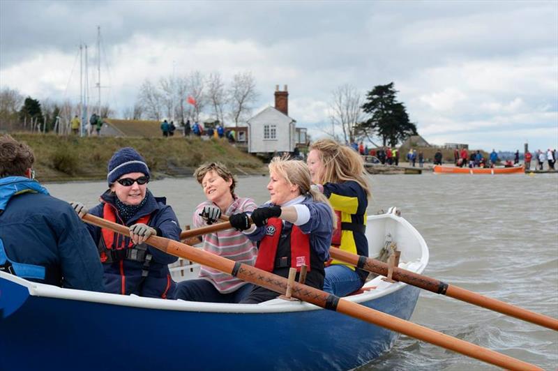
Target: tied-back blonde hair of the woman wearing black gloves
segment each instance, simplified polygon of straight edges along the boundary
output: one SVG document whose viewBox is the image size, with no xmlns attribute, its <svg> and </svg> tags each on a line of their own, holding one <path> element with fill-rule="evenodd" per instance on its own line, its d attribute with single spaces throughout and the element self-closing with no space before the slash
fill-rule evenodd
<svg viewBox="0 0 558 371">
<path fill-rule="evenodd" d="M 271 172 L 275 172 L 285 178 L 285 181 L 287 181 L 289 185 L 296 185 L 301 195 L 309 194 L 315 202 L 323 202 L 329 206 L 331 220 L 333 221 L 333 225 L 335 225 L 337 220 L 333 207 L 331 207 L 329 203 L 329 199 L 327 199 L 322 192 L 310 188 L 310 185 L 312 185 L 312 176 L 310 176 L 310 170 L 305 162 L 301 160 L 289 160 L 288 157 L 274 157 L 271 162 L 269 162 L 269 173 L 271 174 Z"/>
</svg>

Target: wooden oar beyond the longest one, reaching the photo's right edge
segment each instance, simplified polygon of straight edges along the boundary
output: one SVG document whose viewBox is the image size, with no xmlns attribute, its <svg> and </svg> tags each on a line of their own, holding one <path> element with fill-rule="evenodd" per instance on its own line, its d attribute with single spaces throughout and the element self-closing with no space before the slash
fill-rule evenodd
<svg viewBox="0 0 558 371">
<path fill-rule="evenodd" d="M 338 248 L 330 248 L 329 254 L 333 257 L 333 259 L 351 264 L 352 266 L 357 266 L 365 271 L 377 273 L 379 275 L 388 275 L 388 264 L 379 262 L 378 260 L 354 255 Z M 558 319 L 541 315 L 536 312 L 531 312 L 530 310 L 519 308 L 515 305 L 504 303 L 503 301 L 499 301 L 494 298 L 488 298 L 487 296 L 476 294 L 476 292 L 471 292 L 467 289 L 462 289 L 461 287 L 448 285 L 445 282 L 436 280 L 435 278 L 430 278 L 426 275 L 393 267 L 393 275 L 391 278 L 395 281 L 405 282 L 409 285 L 420 287 L 421 289 L 425 289 L 436 294 L 450 296 L 451 298 L 465 301 L 490 310 L 495 310 L 496 312 L 500 312 L 504 315 L 529 321 L 558 331 Z"/>
</svg>

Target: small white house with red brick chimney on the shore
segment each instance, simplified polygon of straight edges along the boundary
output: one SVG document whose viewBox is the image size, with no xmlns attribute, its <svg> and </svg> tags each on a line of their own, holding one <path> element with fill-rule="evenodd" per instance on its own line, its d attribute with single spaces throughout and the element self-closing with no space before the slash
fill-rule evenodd
<svg viewBox="0 0 558 371">
<path fill-rule="evenodd" d="M 287 85 L 283 91 L 277 85 L 275 107 L 267 107 L 248 120 L 248 152 L 292 152 L 299 142 L 299 136 L 296 121 L 289 117 Z"/>
</svg>

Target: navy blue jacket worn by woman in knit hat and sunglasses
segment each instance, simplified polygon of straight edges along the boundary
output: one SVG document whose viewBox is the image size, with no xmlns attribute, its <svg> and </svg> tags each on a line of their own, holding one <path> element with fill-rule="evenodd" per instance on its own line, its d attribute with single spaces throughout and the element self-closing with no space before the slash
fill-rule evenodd
<svg viewBox="0 0 558 371">
<path fill-rule="evenodd" d="M 117 215 L 116 222 L 121 225 L 125 224 L 128 227 L 135 224 L 143 216 L 151 215 L 148 225 L 157 230 L 158 236 L 179 241 L 181 232 L 179 222 L 172 208 L 165 205 L 165 197 L 154 197 L 149 190 L 146 192 L 145 197 L 147 198 L 145 204 L 126 224 L 118 216 L 115 206 L 116 195 L 110 192 L 110 190 L 101 195 L 101 203 L 91 209 L 89 213 L 103 218 L 103 206 L 105 203 L 110 204 Z M 87 229 L 89 229 L 93 241 L 95 241 L 96 245 L 99 245 L 99 241 L 102 238 L 100 227 L 88 224 Z M 126 245 L 128 245 L 129 241 L 130 238 L 127 237 L 125 239 Z M 176 262 L 178 257 L 169 255 L 151 246 L 149 246 L 148 250 L 153 255 L 153 259 L 149 266 L 149 274 L 143 281 L 143 263 L 141 262 L 121 260 L 119 262 L 103 264 L 107 292 L 127 295 L 136 294 L 151 298 L 173 297 L 176 283 L 170 277 L 167 264 Z"/>
</svg>

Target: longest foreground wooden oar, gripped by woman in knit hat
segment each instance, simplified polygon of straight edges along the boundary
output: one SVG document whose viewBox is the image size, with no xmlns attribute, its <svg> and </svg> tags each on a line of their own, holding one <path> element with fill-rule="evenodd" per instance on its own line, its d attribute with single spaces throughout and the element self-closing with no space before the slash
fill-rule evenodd
<svg viewBox="0 0 558 371">
<path fill-rule="evenodd" d="M 103 218 L 98 218 L 91 214 L 84 215 L 83 220 L 90 224 L 97 225 L 98 227 L 112 229 L 114 232 L 125 236 L 130 234 L 128 227 L 104 220 Z M 164 239 L 163 237 L 151 236 L 146 240 L 146 243 L 158 248 L 159 250 L 167 252 L 168 254 L 183 257 L 204 266 L 209 266 L 217 269 L 218 271 L 222 271 L 246 282 L 251 282 L 255 285 L 265 287 L 266 289 L 270 289 L 274 292 L 285 294 L 287 290 L 287 278 L 282 278 L 273 273 L 262 271 L 262 269 L 255 268 L 254 266 L 234 262 L 224 257 L 193 248 L 192 246 L 184 243 Z M 397 331 L 398 333 L 403 333 L 418 340 L 430 342 L 434 345 L 438 345 L 439 347 L 457 351 L 458 353 L 465 354 L 465 356 L 476 358 L 478 360 L 491 363 L 492 365 L 497 365 L 501 368 L 506 368 L 508 370 L 542 370 L 530 363 L 520 361 L 490 349 L 479 347 L 478 345 L 466 342 L 465 340 L 453 338 L 452 336 L 439 333 L 424 326 L 413 324 L 412 322 L 405 321 L 404 319 L 386 315 L 385 313 L 378 312 L 377 310 L 373 310 L 358 303 L 346 301 L 335 295 L 327 294 L 319 289 L 302 285 L 299 282 L 293 283 L 292 296 L 299 298 L 301 301 L 306 301 L 322 308 L 335 310 L 336 312 L 340 312 L 357 319 L 362 319 L 363 321 L 371 324 L 382 326 L 384 328 L 388 328 L 389 330 Z"/>
</svg>

